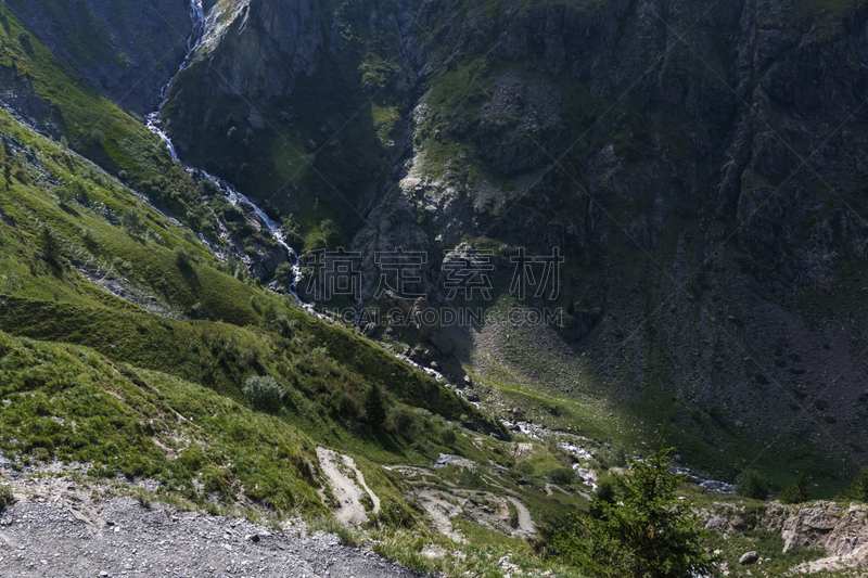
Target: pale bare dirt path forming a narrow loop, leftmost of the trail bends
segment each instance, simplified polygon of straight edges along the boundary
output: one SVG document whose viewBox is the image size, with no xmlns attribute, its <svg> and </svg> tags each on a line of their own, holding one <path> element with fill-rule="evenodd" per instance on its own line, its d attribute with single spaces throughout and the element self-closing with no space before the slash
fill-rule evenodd
<svg viewBox="0 0 868 578">
<path fill-rule="evenodd" d="M 365 476 L 356 467 L 353 458 L 326 448 L 317 448 L 317 459 L 322 472 L 329 478 L 335 500 L 341 504 L 334 512 L 334 517 L 339 522 L 357 526 L 368 522 L 368 511 L 361 502 L 366 493 L 373 502 L 373 513 L 380 512 L 380 498 L 365 483 Z M 355 479 L 350 474 L 355 475 Z M 322 494 L 321 497 L 324 498 Z"/>
</svg>

